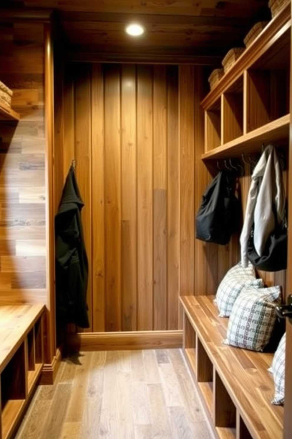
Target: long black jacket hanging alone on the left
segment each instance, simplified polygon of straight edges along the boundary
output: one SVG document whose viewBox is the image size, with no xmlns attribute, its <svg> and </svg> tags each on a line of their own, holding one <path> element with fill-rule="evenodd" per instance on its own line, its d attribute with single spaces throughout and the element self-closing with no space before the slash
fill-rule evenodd
<svg viewBox="0 0 292 439">
<path fill-rule="evenodd" d="M 71 166 L 55 216 L 56 237 L 56 320 L 89 327 L 86 291 L 88 259 L 81 224 L 81 200 Z"/>
</svg>

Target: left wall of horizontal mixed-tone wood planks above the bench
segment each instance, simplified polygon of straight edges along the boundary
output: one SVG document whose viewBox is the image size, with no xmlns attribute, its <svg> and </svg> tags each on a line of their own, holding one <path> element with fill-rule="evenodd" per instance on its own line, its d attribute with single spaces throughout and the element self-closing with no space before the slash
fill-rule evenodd
<svg viewBox="0 0 292 439">
<path fill-rule="evenodd" d="M 0 122 L 0 303 L 47 303 L 44 25 L 0 23 L 0 81 L 20 122 Z"/>
</svg>

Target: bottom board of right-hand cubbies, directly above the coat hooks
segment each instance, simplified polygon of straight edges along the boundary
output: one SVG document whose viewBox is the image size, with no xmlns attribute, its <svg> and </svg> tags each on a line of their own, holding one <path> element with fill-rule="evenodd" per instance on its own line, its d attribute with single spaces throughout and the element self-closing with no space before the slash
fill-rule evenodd
<svg viewBox="0 0 292 439">
<path fill-rule="evenodd" d="M 255 148 L 260 150 L 261 144 L 271 143 L 274 141 L 281 142 L 287 140 L 289 136 L 290 115 L 287 114 L 279 119 L 267 123 L 257 130 L 234 139 L 225 145 L 218 146 L 210 151 L 205 152 L 202 160 L 211 160 L 219 158 L 240 157 L 242 153 L 248 154 L 254 152 Z"/>
</svg>

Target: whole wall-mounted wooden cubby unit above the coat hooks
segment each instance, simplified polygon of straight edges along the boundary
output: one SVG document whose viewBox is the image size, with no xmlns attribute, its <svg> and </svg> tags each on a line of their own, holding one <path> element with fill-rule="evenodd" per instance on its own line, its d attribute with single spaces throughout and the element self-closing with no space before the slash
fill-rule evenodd
<svg viewBox="0 0 292 439">
<path fill-rule="evenodd" d="M 291 5 L 284 7 L 202 101 L 203 160 L 241 157 L 289 135 Z"/>
</svg>

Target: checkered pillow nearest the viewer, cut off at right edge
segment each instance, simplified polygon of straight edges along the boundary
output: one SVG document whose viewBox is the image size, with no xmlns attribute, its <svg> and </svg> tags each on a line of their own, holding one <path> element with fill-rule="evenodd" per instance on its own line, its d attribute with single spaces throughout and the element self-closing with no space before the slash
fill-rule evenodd
<svg viewBox="0 0 292 439">
<path fill-rule="evenodd" d="M 285 396 L 285 348 L 286 348 L 286 333 L 280 340 L 278 348 L 275 352 L 272 367 L 269 369 L 274 377 L 275 393 L 272 404 L 284 404 Z"/>
</svg>

